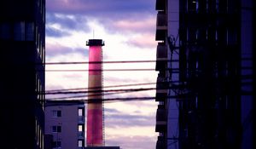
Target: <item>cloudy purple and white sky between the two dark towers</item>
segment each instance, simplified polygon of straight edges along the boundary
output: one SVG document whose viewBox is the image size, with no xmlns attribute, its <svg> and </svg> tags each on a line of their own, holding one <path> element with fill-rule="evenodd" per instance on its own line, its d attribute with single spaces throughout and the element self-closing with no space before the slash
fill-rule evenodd
<svg viewBox="0 0 256 149">
<path fill-rule="evenodd" d="M 105 42 L 103 60 L 155 60 L 155 0 L 46 0 L 46 62 L 88 61 L 86 41 Z M 103 69 L 154 69 L 155 63 L 104 64 Z M 52 65 L 46 70 L 86 70 L 88 65 Z M 155 83 L 157 72 L 103 72 L 104 86 Z M 88 72 L 46 72 L 46 90 L 88 87 Z M 115 89 L 154 88 L 155 84 Z M 104 98 L 154 96 L 155 90 Z M 47 96 L 47 98 L 51 98 Z M 84 95 L 86 99 L 86 95 Z M 104 104 L 105 145 L 153 149 L 157 102 Z"/>
</svg>

